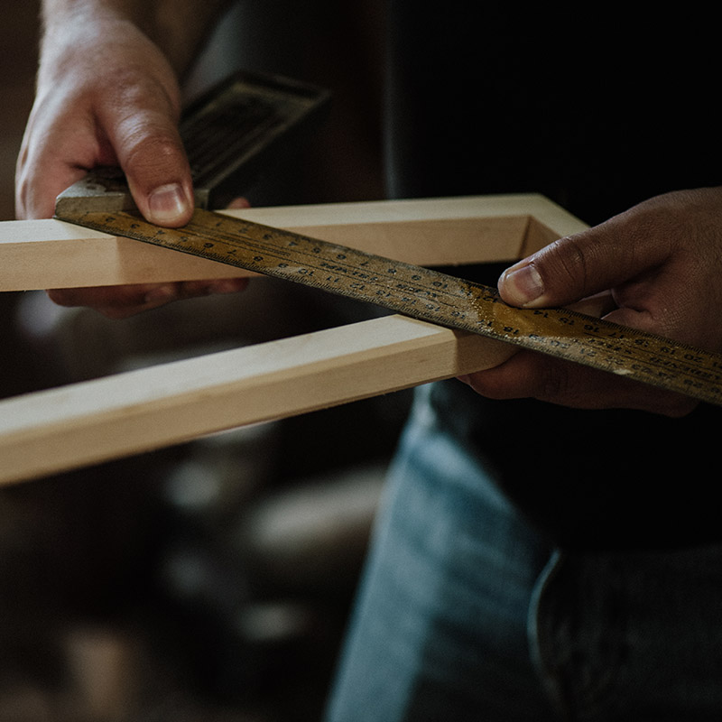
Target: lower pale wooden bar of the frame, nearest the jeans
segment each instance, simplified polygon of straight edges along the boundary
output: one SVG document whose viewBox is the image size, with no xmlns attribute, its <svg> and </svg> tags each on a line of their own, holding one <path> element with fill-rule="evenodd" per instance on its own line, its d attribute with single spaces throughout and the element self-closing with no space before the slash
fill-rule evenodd
<svg viewBox="0 0 722 722">
<path fill-rule="evenodd" d="M 0 402 L 0 483 L 501 363 L 512 347 L 387 316 Z"/>
</svg>

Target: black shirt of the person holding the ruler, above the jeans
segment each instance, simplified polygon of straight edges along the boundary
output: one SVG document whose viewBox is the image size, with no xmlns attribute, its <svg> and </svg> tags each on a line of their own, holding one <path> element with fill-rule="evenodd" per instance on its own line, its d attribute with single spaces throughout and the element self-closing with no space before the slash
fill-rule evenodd
<svg viewBox="0 0 722 722">
<path fill-rule="evenodd" d="M 573 6 L 507 5 L 392 0 L 393 197 L 541 192 L 593 225 L 665 191 L 719 184 L 711 18 L 655 6 L 650 17 L 585 11 L 580 20 Z M 437 384 L 432 399 L 564 546 L 722 539 L 717 408 L 678 420 L 574 411 L 492 402 L 457 381 Z"/>
</svg>

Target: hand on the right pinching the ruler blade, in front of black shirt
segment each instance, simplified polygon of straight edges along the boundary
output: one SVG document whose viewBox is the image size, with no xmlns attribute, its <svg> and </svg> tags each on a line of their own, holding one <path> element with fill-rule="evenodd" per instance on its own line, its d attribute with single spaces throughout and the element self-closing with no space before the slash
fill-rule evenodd
<svg viewBox="0 0 722 722">
<path fill-rule="evenodd" d="M 711 351 L 722 350 L 722 189 L 677 191 L 561 238 L 499 280 L 513 306 L 572 306 L 607 292 L 603 318 Z M 495 399 L 537 398 L 575 408 L 681 416 L 697 402 L 616 375 L 520 351 L 463 379 Z"/>
</svg>

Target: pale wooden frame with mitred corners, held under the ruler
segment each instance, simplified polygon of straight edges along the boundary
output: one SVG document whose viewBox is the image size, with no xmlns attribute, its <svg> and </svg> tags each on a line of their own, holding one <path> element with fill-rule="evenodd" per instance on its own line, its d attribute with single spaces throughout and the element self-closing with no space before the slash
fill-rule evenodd
<svg viewBox="0 0 722 722">
<path fill-rule="evenodd" d="M 229 211 L 231 212 L 231 211 Z M 538 195 L 232 211 L 415 264 L 510 260 L 585 226 Z M 0 290 L 238 275 L 54 220 L 0 223 Z M 513 347 L 387 316 L 0 402 L 0 483 L 495 366 Z"/>
</svg>

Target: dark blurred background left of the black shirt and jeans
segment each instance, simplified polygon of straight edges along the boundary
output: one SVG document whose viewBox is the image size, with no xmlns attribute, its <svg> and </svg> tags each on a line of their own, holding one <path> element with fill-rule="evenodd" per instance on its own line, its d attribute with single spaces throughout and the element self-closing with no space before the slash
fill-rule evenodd
<svg viewBox="0 0 722 722">
<path fill-rule="evenodd" d="M 299 5 L 234 8 L 187 92 L 239 67 L 330 88 L 319 133 L 239 190 L 256 206 L 383 198 L 381 3 Z M 38 3 L 0 7 L 5 221 Z M 42 292 L 0 304 L 4 398 L 371 313 L 271 281 L 125 321 Z M 391 394 L 0 489 L 0 722 L 318 719 L 408 403 Z"/>
</svg>

